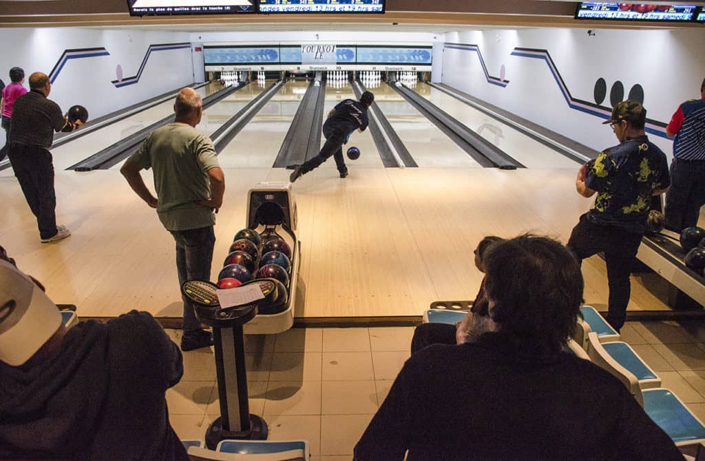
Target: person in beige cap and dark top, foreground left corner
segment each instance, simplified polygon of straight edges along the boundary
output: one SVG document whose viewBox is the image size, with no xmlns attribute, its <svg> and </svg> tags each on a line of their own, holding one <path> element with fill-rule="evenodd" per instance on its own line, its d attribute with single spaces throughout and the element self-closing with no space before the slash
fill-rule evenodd
<svg viewBox="0 0 705 461">
<path fill-rule="evenodd" d="M 0 251 L 0 459 L 186 461 L 165 398 L 182 374 L 150 314 L 67 329 Z"/>
</svg>

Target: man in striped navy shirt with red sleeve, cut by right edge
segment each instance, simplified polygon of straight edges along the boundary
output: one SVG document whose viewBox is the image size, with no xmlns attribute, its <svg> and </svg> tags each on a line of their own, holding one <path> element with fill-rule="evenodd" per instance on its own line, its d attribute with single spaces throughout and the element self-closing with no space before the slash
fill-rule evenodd
<svg viewBox="0 0 705 461">
<path fill-rule="evenodd" d="M 676 232 L 697 226 L 700 207 L 705 204 L 705 79 L 700 96 L 680 104 L 666 127 L 666 135 L 675 136 L 666 228 Z"/>
</svg>

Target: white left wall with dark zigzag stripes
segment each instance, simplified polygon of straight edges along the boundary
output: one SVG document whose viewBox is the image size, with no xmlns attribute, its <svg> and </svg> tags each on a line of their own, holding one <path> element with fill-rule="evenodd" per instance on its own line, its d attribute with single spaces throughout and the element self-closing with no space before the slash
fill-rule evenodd
<svg viewBox="0 0 705 461">
<path fill-rule="evenodd" d="M 189 42 L 188 33 L 140 30 L 99 30 L 77 27 L 0 29 L 0 78 L 9 82 L 13 66 L 25 70 L 25 87 L 30 73 L 47 75 L 66 49 L 104 47 L 109 56 L 70 59 L 51 86 L 49 99 L 63 111 L 73 104 L 88 109 L 91 118 L 136 104 L 174 88 L 190 85 L 193 67 L 190 48 L 152 51 L 140 80 L 116 88 L 116 68 L 123 78 L 137 74 L 151 44 Z M 4 135 L 0 136 L 4 142 Z"/>
</svg>

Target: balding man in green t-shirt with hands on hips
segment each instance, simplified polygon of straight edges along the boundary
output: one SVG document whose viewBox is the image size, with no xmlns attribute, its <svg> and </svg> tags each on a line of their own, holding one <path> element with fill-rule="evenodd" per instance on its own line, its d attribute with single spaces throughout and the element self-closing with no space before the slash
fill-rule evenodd
<svg viewBox="0 0 705 461">
<path fill-rule="evenodd" d="M 223 204 L 225 176 L 213 142 L 196 130 L 203 114 L 200 94 L 184 88 L 174 103 L 174 123 L 157 128 L 120 172 L 147 204 L 157 209 L 159 220 L 176 240 L 179 286 L 192 279 L 209 280 L 216 222 L 214 212 Z M 147 189 L 140 170 L 152 168 L 157 197 Z M 182 296 L 183 297 L 183 296 Z M 181 350 L 213 344 L 213 336 L 201 328 L 192 303 L 183 297 Z"/>
</svg>

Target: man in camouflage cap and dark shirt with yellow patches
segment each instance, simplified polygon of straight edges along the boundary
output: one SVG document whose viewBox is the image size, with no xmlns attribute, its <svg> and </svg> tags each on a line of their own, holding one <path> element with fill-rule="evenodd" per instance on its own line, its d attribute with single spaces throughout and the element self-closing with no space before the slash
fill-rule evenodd
<svg viewBox="0 0 705 461">
<path fill-rule="evenodd" d="M 604 150 L 591 166 L 582 166 L 575 188 L 583 197 L 597 192 L 594 208 L 580 216 L 568 240 L 578 259 L 603 252 L 609 283 L 608 323 L 624 325 L 637 256 L 651 209 L 651 197 L 670 185 L 666 154 L 644 133 L 646 109 L 639 102 L 617 104 L 609 123 L 620 144 Z"/>
</svg>

